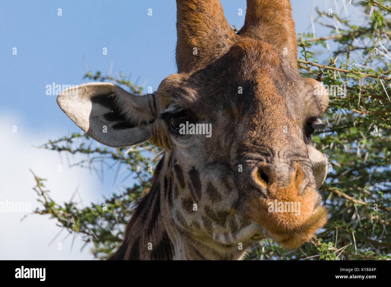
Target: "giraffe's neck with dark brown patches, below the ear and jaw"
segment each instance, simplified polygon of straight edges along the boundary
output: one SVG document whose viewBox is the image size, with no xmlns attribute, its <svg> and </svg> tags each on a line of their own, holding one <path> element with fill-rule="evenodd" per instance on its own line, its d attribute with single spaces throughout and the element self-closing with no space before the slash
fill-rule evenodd
<svg viewBox="0 0 391 287">
<path fill-rule="evenodd" d="M 174 188 L 171 156 L 165 153 L 152 179 L 151 190 L 138 204 L 126 227 L 114 260 L 238 260 L 245 251 L 222 246 L 212 238 L 194 238 L 176 226 L 170 206 Z M 166 158 L 166 160 L 165 160 Z M 179 191 L 180 193 L 180 191 Z M 216 245 L 217 244 L 217 245 Z M 225 251 L 222 251 L 225 250 Z"/>
</svg>

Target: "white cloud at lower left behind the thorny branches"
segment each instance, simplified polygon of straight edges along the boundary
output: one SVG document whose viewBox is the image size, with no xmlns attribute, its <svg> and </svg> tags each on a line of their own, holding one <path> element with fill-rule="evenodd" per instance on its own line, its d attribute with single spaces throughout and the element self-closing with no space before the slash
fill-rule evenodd
<svg viewBox="0 0 391 287">
<path fill-rule="evenodd" d="M 62 165 L 62 172 L 58 172 L 58 165 L 61 164 L 59 154 L 55 151 L 38 149 L 47 142 L 47 137 L 56 138 L 61 136 L 61 131 L 48 130 L 27 130 L 23 123 L 18 123 L 16 116 L 0 116 L 0 150 L 2 151 L 2 163 L 0 165 L 1 189 L 0 201 L 27 201 L 31 202 L 32 210 L 40 205 L 32 187 L 35 186 L 34 173 L 46 178 L 45 185 L 50 190 L 50 196 L 58 203 L 70 200 L 75 189 L 78 190 L 84 204 L 91 201 L 96 202 L 102 198 L 96 176 L 91 176 L 88 169 L 78 167 L 68 168 L 66 160 Z M 16 125 L 17 132 L 13 133 L 13 126 Z M 59 134 L 60 133 L 60 134 Z M 34 145 L 34 146 L 33 146 Z M 78 160 L 75 157 L 75 160 Z M 78 198 L 75 198 L 78 199 Z M 60 231 L 56 226 L 56 219 L 49 219 L 50 216 L 32 214 L 23 221 L 23 213 L 0 212 L 0 259 L 18 260 L 75 260 L 92 259 L 89 253 L 90 244 L 83 252 L 80 252 L 84 242 L 76 237 L 72 253 L 71 244 L 73 235 L 63 230 L 61 235 L 48 246 Z M 61 242 L 62 250 L 57 249 Z"/>
</svg>

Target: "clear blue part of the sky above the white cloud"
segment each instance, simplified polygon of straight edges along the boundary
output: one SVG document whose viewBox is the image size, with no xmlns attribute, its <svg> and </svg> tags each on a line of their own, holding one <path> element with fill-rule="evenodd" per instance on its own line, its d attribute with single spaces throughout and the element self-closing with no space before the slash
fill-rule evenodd
<svg viewBox="0 0 391 287">
<path fill-rule="evenodd" d="M 317 2 L 323 7 L 323 1 Z M 310 24 L 310 4 L 293 3 L 296 32 Z M 24 128 L 61 127 L 59 135 L 75 130 L 57 107 L 56 97 L 45 94 L 45 87 L 52 82 L 88 82 L 82 79 L 83 55 L 93 73 L 107 74 L 113 59 L 113 71 L 131 74 L 133 81 L 140 77 L 139 84 L 147 81 L 154 90 L 176 72 L 175 1 L 2 1 L 0 5 L 4 94 L 0 113 L 16 114 Z M 245 11 L 246 1 L 223 0 L 222 6 L 228 23 L 240 28 L 244 16 L 238 16 L 238 9 Z M 57 16 L 59 8 L 62 16 Z M 152 16 L 147 15 L 149 8 Z M 12 54 L 14 47 L 17 55 Z M 104 47 L 107 55 L 102 54 Z"/>
</svg>

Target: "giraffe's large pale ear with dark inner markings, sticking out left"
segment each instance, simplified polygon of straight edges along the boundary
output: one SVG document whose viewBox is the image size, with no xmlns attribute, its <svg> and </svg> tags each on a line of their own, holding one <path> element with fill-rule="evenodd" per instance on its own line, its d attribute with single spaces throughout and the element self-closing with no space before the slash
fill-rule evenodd
<svg viewBox="0 0 391 287">
<path fill-rule="evenodd" d="M 86 134 L 107 146 L 130 146 L 153 136 L 153 94 L 136 96 L 111 83 L 88 83 L 62 91 L 57 103 Z"/>
</svg>

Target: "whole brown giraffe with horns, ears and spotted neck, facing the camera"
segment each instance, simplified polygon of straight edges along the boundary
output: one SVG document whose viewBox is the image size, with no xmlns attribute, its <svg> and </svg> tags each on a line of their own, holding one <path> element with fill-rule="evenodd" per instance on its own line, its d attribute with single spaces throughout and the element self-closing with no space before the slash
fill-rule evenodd
<svg viewBox="0 0 391 287">
<path fill-rule="evenodd" d="M 327 220 L 318 191 L 327 158 L 311 134 L 328 95 L 298 73 L 289 0 L 247 0 L 238 33 L 218 0 L 176 2 L 178 73 L 156 92 L 88 83 L 57 97 L 102 144 L 164 149 L 110 259 L 240 260 L 264 238 L 298 248 Z M 191 123 L 210 125 L 210 137 L 183 133 Z M 287 203 L 300 212 L 279 209 Z"/>
</svg>

